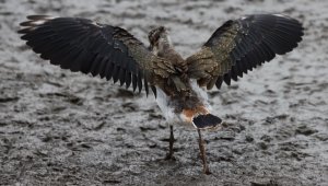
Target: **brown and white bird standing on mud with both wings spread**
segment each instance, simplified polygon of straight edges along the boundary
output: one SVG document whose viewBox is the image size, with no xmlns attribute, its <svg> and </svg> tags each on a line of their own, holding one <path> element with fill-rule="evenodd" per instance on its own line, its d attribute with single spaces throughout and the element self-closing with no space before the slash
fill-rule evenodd
<svg viewBox="0 0 328 186">
<path fill-rule="evenodd" d="M 249 14 L 224 22 L 198 51 L 183 58 L 162 25 L 149 32 L 147 46 L 122 27 L 84 18 L 26 18 L 17 33 L 51 65 L 113 80 L 126 89 L 132 86 L 133 92 L 153 92 L 169 124 L 166 160 L 174 159 L 173 125 L 194 127 L 204 174 L 211 172 L 201 131 L 223 124 L 210 111 L 206 91 L 220 89 L 223 82 L 231 85 L 277 55 L 292 51 L 304 35 L 302 23 L 288 15 Z"/>
</svg>

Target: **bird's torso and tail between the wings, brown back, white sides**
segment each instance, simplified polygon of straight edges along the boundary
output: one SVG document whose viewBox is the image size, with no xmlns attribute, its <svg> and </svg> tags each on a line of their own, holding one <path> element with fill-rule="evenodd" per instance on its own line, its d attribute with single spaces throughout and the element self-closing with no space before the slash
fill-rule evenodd
<svg viewBox="0 0 328 186">
<path fill-rule="evenodd" d="M 157 83 L 157 104 L 169 123 L 181 121 L 196 128 L 213 128 L 221 119 L 210 114 L 207 93 L 188 74 L 187 61 L 173 48 L 157 53 L 177 69 L 176 74 Z"/>
</svg>

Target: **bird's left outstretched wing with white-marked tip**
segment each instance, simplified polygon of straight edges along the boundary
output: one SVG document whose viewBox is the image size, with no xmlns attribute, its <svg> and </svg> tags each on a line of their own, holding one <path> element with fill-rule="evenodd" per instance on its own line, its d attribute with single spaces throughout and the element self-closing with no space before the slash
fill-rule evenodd
<svg viewBox="0 0 328 186">
<path fill-rule="evenodd" d="M 152 80 L 175 73 L 169 61 L 152 55 L 148 48 L 127 31 L 79 18 L 51 18 L 31 15 L 26 26 L 19 31 L 22 39 L 43 59 L 62 69 L 99 74 L 128 89 L 132 84 L 139 92 Z"/>
</svg>

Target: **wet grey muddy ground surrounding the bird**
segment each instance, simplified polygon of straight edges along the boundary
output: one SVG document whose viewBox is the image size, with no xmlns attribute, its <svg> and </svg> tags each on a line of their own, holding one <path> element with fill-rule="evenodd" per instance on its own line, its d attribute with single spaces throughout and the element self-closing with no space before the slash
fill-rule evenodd
<svg viewBox="0 0 328 186">
<path fill-rule="evenodd" d="M 0 0 L 0 185 L 328 185 L 328 1 Z M 20 40 L 28 14 L 82 16 L 129 30 L 171 30 L 184 57 L 229 19 L 282 12 L 304 23 L 293 53 L 210 92 L 225 128 L 168 128 L 154 97 L 50 66 Z"/>
</svg>

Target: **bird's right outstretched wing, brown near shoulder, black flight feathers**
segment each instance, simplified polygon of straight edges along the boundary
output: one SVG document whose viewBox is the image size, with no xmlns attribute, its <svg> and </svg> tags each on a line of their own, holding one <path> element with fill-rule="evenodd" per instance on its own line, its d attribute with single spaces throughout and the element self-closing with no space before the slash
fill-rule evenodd
<svg viewBox="0 0 328 186">
<path fill-rule="evenodd" d="M 190 78 L 200 86 L 221 88 L 248 70 L 291 51 L 302 40 L 302 24 L 281 14 L 256 14 L 227 21 L 202 49 L 187 58 Z"/>
</svg>

